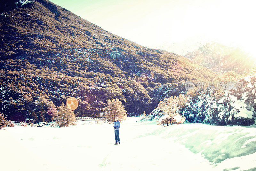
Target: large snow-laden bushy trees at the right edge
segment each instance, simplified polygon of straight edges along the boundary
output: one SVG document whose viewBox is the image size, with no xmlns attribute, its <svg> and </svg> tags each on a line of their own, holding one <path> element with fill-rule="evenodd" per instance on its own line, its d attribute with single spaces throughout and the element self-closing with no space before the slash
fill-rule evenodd
<svg viewBox="0 0 256 171">
<path fill-rule="evenodd" d="M 256 124 L 256 75 L 199 89 L 190 97 L 189 104 L 182 109 L 188 122 L 222 126 Z"/>
</svg>

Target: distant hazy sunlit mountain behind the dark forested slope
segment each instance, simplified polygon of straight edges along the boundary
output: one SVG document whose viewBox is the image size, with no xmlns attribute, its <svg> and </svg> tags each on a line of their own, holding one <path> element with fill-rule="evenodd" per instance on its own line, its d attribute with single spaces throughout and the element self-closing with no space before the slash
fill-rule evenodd
<svg viewBox="0 0 256 171">
<path fill-rule="evenodd" d="M 256 58 L 240 48 L 228 47 L 220 43 L 206 43 L 198 50 L 185 55 L 192 62 L 214 72 L 235 71 L 244 74 L 255 67 Z"/>
</svg>

